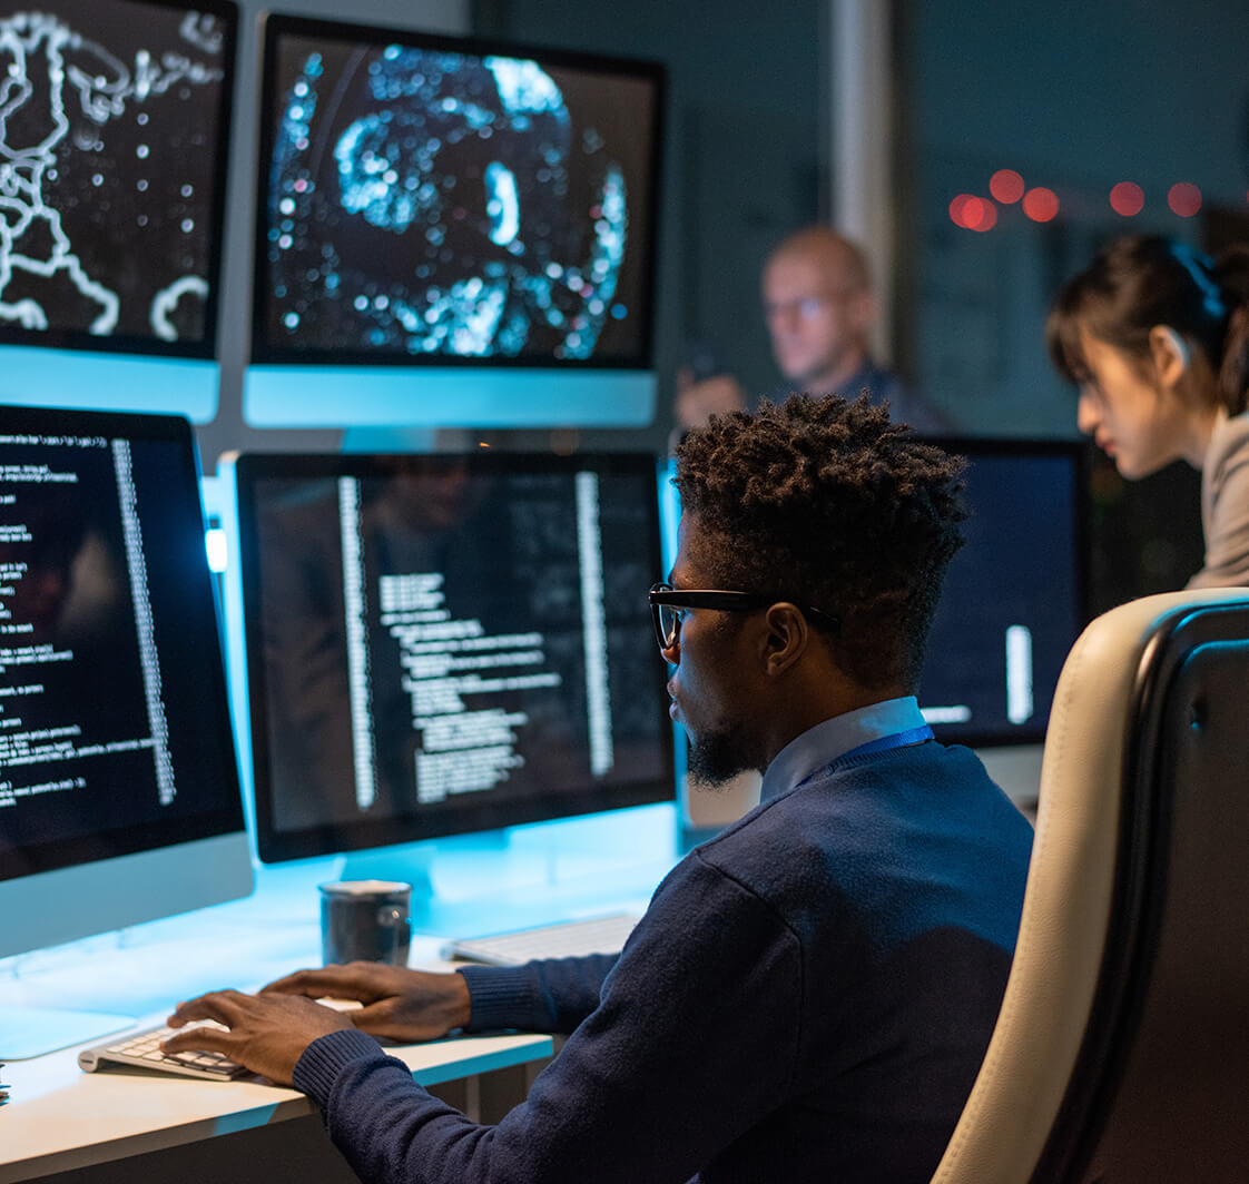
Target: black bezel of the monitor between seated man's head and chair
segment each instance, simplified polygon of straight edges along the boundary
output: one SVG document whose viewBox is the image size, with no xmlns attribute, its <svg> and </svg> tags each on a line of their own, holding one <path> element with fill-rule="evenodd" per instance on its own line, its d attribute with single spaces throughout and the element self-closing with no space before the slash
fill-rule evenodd
<svg viewBox="0 0 1249 1184">
<path fill-rule="evenodd" d="M 955 456 L 964 456 L 973 465 L 977 457 L 1059 457 L 1065 458 L 1073 476 L 1072 546 L 1074 548 L 1075 618 L 1077 636 L 1089 621 L 1089 475 L 1090 452 L 1087 441 L 1077 438 L 1024 436 L 922 436 L 924 443 L 933 445 Z M 955 556 L 957 560 L 957 556 Z M 1074 643 L 1075 637 L 1072 638 Z M 927 658 L 927 651 L 926 651 Z M 921 699 L 922 703 L 922 699 Z M 1050 704 L 1050 711 L 1053 704 Z M 965 744 L 969 748 L 1008 748 L 1039 744 L 1045 739 L 1049 726 L 1044 723 L 1020 724 L 1010 732 L 977 731 L 958 724 L 933 724 L 937 739 L 947 744 Z"/>
</svg>

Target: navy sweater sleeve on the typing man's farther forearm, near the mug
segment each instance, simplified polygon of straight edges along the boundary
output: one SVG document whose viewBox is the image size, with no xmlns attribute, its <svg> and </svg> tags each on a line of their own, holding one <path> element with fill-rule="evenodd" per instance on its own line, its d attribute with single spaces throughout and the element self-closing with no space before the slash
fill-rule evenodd
<svg viewBox="0 0 1249 1184">
<path fill-rule="evenodd" d="M 567 1035 L 596 1007 L 615 954 L 552 958 L 522 967 L 461 967 L 472 1018 L 466 1032 L 520 1028 Z"/>
</svg>

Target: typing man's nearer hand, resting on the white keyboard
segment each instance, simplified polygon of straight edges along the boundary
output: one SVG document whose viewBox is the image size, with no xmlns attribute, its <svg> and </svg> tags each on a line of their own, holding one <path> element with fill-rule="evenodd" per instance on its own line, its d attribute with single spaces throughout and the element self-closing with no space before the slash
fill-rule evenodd
<svg viewBox="0 0 1249 1184">
<path fill-rule="evenodd" d="M 224 1053 L 279 1085 L 291 1084 L 295 1063 L 313 1040 L 351 1028 L 346 1015 L 311 999 L 237 990 L 215 990 L 180 1003 L 169 1025 L 181 1028 L 192 1019 L 215 1019 L 230 1030 L 200 1027 L 179 1032 L 165 1042 L 166 1053 Z"/>
</svg>

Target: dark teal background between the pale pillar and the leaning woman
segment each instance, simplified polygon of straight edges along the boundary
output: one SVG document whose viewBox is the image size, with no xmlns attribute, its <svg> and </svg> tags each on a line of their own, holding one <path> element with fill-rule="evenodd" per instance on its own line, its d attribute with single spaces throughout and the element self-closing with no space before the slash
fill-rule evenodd
<svg viewBox="0 0 1249 1184">
<path fill-rule="evenodd" d="M 909 367 L 972 431 L 1070 433 L 1073 401 L 1042 340 L 1060 282 L 1117 234 L 1202 242 L 1203 217 L 1167 207 L 1177 181 L 1200 186 L 1203 214 L 1249 215 L 1249 6 L 931 0 L 897 11 Z M 950 200 L 987 195 L 997 169 L 1053 189 L 1059 216 L 1042 225 L 1003 205 L 988 232 L 955 227 Z M 1122 180 L 1145 191 L 1134 219 L 1108 205 Z"/>
</svg>

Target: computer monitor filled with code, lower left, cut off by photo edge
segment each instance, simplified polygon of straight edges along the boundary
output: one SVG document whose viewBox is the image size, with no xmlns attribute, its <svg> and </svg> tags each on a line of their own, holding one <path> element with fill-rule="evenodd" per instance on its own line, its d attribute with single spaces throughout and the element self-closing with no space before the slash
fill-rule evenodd
<svg viewBox="0 0 1249 1184">
<path fill-rule="evenodd" d="M 0 957 L 251 886 L 187 421 L 0 406 Z"/>
</svg>

